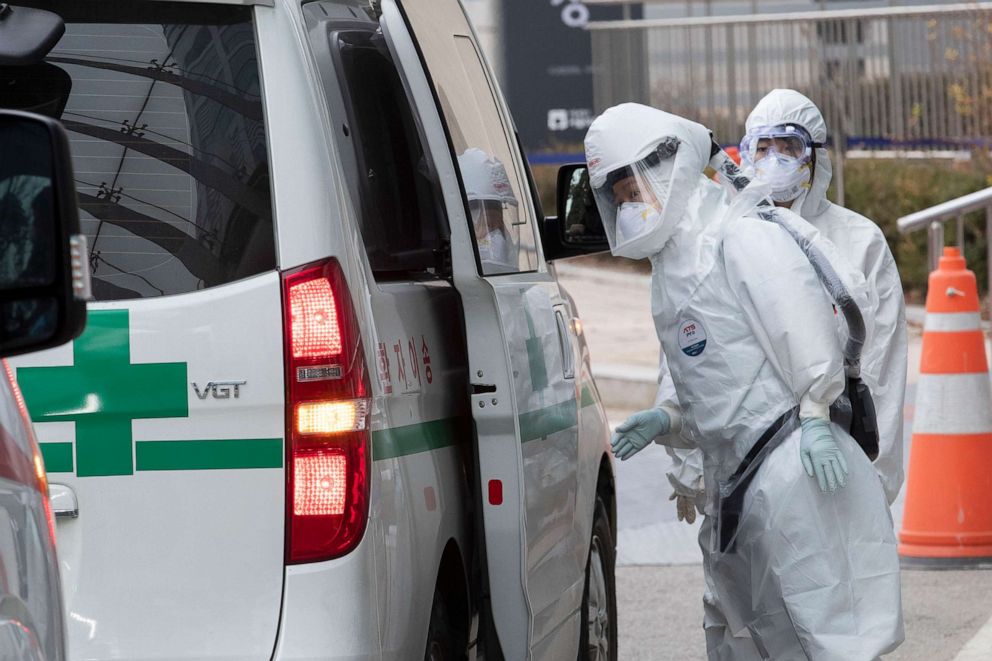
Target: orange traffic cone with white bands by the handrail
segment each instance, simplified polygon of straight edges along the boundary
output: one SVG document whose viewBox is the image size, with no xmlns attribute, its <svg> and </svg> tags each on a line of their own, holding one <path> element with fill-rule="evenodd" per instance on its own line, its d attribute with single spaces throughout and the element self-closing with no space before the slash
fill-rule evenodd
<svg viewBox="0 0 992 661">
<path fill-rule="evenodd" d="M 944 248 L 930 274 L 899 555 L 992 567 L 992 392 L 975 274 Z"/>
</svg>

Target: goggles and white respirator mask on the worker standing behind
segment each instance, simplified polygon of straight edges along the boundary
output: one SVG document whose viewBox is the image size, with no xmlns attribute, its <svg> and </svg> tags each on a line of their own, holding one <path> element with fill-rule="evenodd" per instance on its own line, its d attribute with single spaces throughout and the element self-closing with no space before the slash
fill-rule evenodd
<svg viewBox="0 0 992 661">
<path fill-rule="evenodd" d="M 809 188 L 813 150 L 822 146 L 796 124 L 758 126 L 741 140 L 741 164 L 749 177 L 772 187 L 773 200 L 791 202 Z"/>
</svg>

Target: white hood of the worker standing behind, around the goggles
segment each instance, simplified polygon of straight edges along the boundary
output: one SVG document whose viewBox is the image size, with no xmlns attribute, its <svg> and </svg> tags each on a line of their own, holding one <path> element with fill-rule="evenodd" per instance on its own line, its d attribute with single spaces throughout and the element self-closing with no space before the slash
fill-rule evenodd
<svg viewBox="0 0 992 661">
<path fill-rule="evenodd" d="M 795 90 L 776 89 L 766 94 L 748 115 L 744 127 L 751 131 L 774 124 L 797 124 L 806 129 L 815 142 L 823 144 L 827 141 L 827 124 L 823 120 L 823 113 L 815 103 Z M 827 188 L 833 177 L 830 155 L 826 147 L 817 147 L 814 154 L 816 165 L 810 188 L 796 198 L 791 207 L 792 211 L 804 218 L 823 213 L 830 204 L 827 200 Z"/>
</svg>

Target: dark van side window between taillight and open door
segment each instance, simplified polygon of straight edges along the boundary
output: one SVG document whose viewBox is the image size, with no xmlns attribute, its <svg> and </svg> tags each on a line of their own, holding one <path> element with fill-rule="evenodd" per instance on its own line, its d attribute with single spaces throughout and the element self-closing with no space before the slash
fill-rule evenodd
<svg viewBox="0 0 992 661">
<path fill-rule="evenodd" d="M 324 4 L 307 5 L 312 20 Z M 433 273 L 448 238 L 437 178 L 378 24 L 363 22 L 326 21 L 314 43 L 337 79 L 325 83 L 362 240 L 379 280 Z"/>
</svg>

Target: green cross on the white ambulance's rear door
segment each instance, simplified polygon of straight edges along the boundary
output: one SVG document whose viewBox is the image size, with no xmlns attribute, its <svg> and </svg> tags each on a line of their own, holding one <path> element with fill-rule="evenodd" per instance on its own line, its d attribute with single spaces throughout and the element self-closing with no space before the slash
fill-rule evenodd
<svg viewBox="0 0 992 661">
<path fill-rule="evenodd" d="M 92 310 L 71 367 L 22 367 L 35 422 L 76 423 L 76 475 L 132 475 L 131 422 L 189 416 L 186 363 L 131 363 L 127 310 Z M 70 455 L 71 457 L 71 455 Z"/>
</svg>

